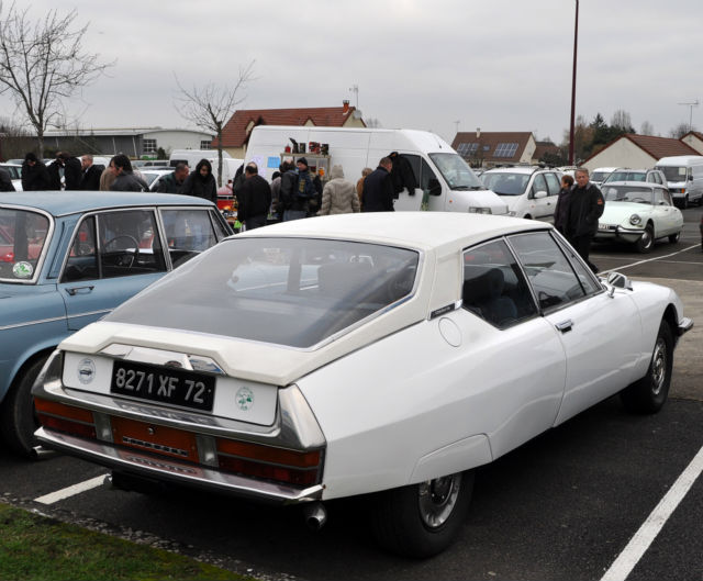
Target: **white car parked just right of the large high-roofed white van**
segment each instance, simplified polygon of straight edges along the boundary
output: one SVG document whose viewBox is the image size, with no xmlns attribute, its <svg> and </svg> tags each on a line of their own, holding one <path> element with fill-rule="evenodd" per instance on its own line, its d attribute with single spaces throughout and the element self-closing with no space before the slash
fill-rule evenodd
<svg viewBox="0 0 703 581">
<path fill-rule="evenodd" d="M 501 167 L 481 174 L 481 181 L 507 203 L 511 216 L 554 222 L 561 172 L 539 167 Z"/>
</svg>

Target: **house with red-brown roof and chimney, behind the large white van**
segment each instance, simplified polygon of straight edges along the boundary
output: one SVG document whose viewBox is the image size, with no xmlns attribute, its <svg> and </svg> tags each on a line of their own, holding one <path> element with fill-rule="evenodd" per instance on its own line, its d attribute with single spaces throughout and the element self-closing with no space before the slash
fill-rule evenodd
<svg viewBox="0 0 703 581">
<path fill-rule="evenodd" d="M 313 107 L 304 109 L 246 109 L 236 111 L 222 130 L 222 146 L 232 157 L 244 159 L 252 130 L 258 125 L 293 125 L 319 127 L 366 127 L 360 111 L 349 107 Z M 212 147 L 217 147 L 213 139 Z"/>
</svg>

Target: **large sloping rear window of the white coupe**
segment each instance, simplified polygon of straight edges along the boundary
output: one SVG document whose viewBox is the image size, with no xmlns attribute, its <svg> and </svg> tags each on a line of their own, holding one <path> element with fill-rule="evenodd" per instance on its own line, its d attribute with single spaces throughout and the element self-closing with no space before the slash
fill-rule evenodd
<svg viewBox="0 0 703 581">
<path fill-rule="evenodd" d="M 233 238 L 105 320 L 306 348 L 409 297 L 419 260 L 377 244 Z"/>
</svg>

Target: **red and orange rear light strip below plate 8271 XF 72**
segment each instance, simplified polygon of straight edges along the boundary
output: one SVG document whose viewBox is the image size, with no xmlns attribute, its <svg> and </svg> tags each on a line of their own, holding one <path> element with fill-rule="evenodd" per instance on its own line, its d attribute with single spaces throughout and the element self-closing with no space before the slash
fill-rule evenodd
<svg viewBox="0 0 703 581">
<path fill-rule="evenodd" d="M 245 477 L 309 487 L 320 482 L 322 451 L 300 451 L 249 442 L 212 437 L 121 416 L 101 416 L 36 398 L 40 422 L 48 429 L 109 442 L 156 456 L 168 456 Z M 105 420 L 109 429 L 105 434 Z M 109 436 L 109 437 L 105 437 Z"/>
</svg>

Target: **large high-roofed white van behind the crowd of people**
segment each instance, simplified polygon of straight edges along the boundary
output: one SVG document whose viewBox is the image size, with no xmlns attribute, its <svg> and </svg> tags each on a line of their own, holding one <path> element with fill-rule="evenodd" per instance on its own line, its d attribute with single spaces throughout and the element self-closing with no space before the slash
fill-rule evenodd
<svg viewBox="0 0 703 581">
<path fill-rule="evenodd" d="M 408 159 L 419 186 L 400 192 L 395 210 L 507 214 L 507 204 L 486 189 L 464 158 L 426 131 L 259 125 L 249 137 L 246 161 L 255 161 L 270 181 L 283 157 L 305 157 L 323 180 L 341 165 L 345 178 L 356 183 L 364 168 L 376 169 L 392 152 Z"/>
</svg>

